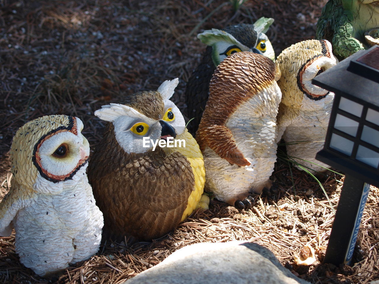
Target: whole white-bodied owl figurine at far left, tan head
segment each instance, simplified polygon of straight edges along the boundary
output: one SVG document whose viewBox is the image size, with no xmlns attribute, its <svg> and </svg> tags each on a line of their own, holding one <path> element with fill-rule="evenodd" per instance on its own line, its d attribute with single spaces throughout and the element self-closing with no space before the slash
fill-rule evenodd
<svg viewBox="0 0 379 284">
<path fill-rule="evenodd" d="M 99 250 L 103 215 L 86 176 L 89 145 L 77 117 L 23 125 L 11 145 L 12 186 L 0 203 L 0 235 L 16 230 L 20 262 L 48 276 Z"/>
</svg>

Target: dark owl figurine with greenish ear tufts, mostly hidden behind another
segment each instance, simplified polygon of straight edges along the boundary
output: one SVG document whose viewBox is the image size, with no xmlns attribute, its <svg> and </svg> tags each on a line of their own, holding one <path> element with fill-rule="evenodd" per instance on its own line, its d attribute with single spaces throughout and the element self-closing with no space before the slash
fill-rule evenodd
<svg viewBox="0 0 379 284">
<path fill-rule="evenodd" d="M 208 46 L 202 61 L 186 85 L 187 116 L 192 119 L 187 126 L 190 133 L 194 134 L 199 126 L 208 100 L 209 82 L 222 60 L 240 51 L 260 53 L 275 60 L 274 49 L 265 34 L 273 22 L 272 18 L 262 17 L 254 25 L 241 23 L 223 30 L 207 30 L 197 35 L 200 41 Z"/>
</svg>

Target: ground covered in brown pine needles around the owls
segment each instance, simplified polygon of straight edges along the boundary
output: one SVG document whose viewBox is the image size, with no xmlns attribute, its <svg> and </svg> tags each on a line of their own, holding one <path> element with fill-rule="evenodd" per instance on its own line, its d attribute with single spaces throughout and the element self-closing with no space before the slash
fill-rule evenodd
<svg viewBox="0 0 379 284">
<path fill-rule="evenodd" d="M 227 0 L 0 1 L 0 197 L 8 192 L 11 139 L 25 122 L 48 114 L 79 117 L 95 148 L 104 124 L 94 110 L 125 94 L 155 90 L 179 77 L 174 102 L 184 109 L 184 89 L 205 47 L 197 33 L 232 23 L 273 17 L 268 31 L 276 51 L 315 37 L 326 0 L 249 0 L 237 11 Z M 122 283 L 197 242 L 247 240 L 269 248 L 295 275 L 312 283 L 379 280 L 379 190 L 371 187 L 352 266 L 322 265 L 344 177 L 311 176 L 278 161 L 274 187 L 253 195 L 247 211 L 212 200 L 175 231 L 151 243 L 103 240 L 88 261 L 68 267 L 58 283 Z M 298 267 L 294 255 L 309 244 L 316 261 Z M 0 282 L 47 283 L 19 262 L 14 232 L 0 238 Z M 374 283 L 374 282 L 373 282 Z"/>
</svg>

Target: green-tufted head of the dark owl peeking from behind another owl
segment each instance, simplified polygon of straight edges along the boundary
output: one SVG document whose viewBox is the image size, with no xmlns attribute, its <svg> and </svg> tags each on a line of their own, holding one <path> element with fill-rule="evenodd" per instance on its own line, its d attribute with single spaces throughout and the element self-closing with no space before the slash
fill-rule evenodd
<svg viewBox="0 0 379 284">
<path fill-rule="evenodd" d="M 227 56 L 252 51 L 275 60 L 275 53 L 265 32 L 274 22 L 273 18 L 262 17 L 254 23 L 231 25 L 224 30 L 206 30 L 197 35 L 200 41 L 212 47 L 212 60 L 218 66 Z"/>
</svg>

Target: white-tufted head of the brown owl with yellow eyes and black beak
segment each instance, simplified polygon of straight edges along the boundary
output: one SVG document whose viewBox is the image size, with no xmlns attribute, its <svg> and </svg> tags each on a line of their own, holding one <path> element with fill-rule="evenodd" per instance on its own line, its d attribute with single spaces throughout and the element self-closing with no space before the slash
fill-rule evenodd
<svg viewBox="0 0 379 284">
<path fill-rule="evenodd" d="M 95 115 L 113 123 L 116 140 L 125 152 L 145 153 L 153 147 L 150 139 L 155 143 L 185 131 L 182 113 L 169 100 L 178 83 L 178 78 L 164 81 L 157 91 L 135 93 L 121 103 L 102 106 Z"/>
</svg>

